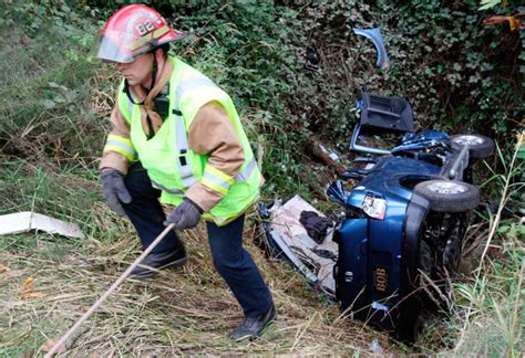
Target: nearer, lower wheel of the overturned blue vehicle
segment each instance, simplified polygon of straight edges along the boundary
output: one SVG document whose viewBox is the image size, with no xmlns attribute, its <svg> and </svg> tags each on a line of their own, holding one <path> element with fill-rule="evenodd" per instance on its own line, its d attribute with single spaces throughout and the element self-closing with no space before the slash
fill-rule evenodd
<svg viewBox="0 0 525 358">
<path fill-rule="evenodd" d="M 480 203 L 480 190 L 457 180 L 428 180 L 414 187 L 430 202 L 430 209 L 437 212 L 465 212 Z"/>
</svg>

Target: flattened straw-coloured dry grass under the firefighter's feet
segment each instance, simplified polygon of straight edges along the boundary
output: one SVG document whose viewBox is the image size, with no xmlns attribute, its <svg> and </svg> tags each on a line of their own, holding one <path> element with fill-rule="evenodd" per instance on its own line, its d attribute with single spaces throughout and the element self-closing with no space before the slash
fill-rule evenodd
<svg viewBox="0 0 525 358">
<path fill-rule="evenodd" d="M 10 268 L 0 273 L 0 356 L 39 354 L 41 345 L 65 333 L 136 257 L 137 240 L 126 221 L 95 207 L 93 222 L 113 231 L 115 240 L 80 243 L 44 233 L 8 238 L 11 244 L 0 251 L 0 264 Z M 203 229 L 182 234 L 189 252 L 186 266 L 148 282 L 128 280 L 78 330 L 66 354 L 349 355 L 368 349 L 377 337 L 388 347 L 384 336 L 340 319 L 337 307 L 319 299 L 286 263 L 265 257 L 254 244 L 258 230 L 249 225 L 246 246 L 274 293 L 278 320 L 259 339 L 230 341 L 227 334 L 241 312 L 212 265 Z M 20 240 L 37 241 L 35 250 L 20 249 Z M 20 297 L 28 277 L 43 296 Z"/>
</svg>

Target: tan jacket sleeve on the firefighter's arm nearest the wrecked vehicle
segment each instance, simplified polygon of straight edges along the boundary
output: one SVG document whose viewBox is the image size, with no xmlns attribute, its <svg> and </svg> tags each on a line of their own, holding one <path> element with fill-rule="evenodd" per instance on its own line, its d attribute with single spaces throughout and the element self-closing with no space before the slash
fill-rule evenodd
<svg viewBox="0 0 525 358">
<path fill-rule="evenodd" d="M 243 146 L 235 127 L 218 102 L 209 102 L 200 107 L 188 131 L 189 149 L 209 156 L 207 166 L 235 178 L 245 161 Z M 200 182 L 194 183 L 186 191 L 186 197 L 209 211 L 224 194 L 212 190 Z"/>
</svg>

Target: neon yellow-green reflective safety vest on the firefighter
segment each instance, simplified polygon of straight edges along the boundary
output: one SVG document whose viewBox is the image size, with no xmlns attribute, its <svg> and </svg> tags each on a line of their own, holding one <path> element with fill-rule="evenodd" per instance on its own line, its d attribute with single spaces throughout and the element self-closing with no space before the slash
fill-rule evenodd
<svg viewBox="0 0 525 358">
<path fill-rule="evenodd" d="M 162 202 L 181 203 L 186 190 L 196 182 L 223 194 L 224 198 L 203 217 L 218 225 L 226 224 L 257 200 L 260 172 L 230 97 L 186 63 L 174 57 L 169 61 L 174 65 L 169 78 L 169 115 L 162 127 L 153 138 L 147 139 L 140 106 L 134 105 L 126 95 L 119 95 L 119 108 L 131 127 L 131 141 L 112 145 L 115 145 L 115 151 L 130 160 L 136 151 L 154 187 L 163 191 Z M 119 94 L 123 94 L 123 85 Z M 214 101 L 226 110 L 243 146 L 245 161 L 235 178 L 207 165 L 207 156 L 191 150 L 188 146 L 188 128 L 196 113 Z M 111 144 L 110 139 L 106 146 Z M 124 150 L 128 150 L 127 155 Z"/>
</svg>

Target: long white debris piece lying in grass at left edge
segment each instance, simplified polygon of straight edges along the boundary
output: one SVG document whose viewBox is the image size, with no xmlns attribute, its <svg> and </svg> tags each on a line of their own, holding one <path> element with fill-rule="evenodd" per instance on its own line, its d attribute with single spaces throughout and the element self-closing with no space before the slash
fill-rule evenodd
<svg viewBox="0 0 525 358">
<path fill-rule="evenodd" d="M 59 235 L 83 239 L 78 224 L 53 219 L 31 211 L 0 215 L 0 235 L 17 234 L 30 230 L 45 231 Z"/>
</svg>

